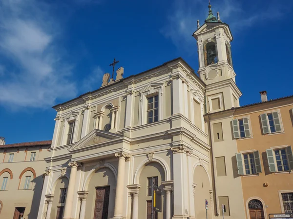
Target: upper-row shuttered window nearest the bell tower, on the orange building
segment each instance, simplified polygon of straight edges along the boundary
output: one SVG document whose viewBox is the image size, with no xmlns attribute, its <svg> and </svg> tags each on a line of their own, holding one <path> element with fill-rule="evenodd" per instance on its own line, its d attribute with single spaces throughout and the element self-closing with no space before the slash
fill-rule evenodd
<svg viewBox="0 0 293 219">
<path fill-rule="evenodd" d="M 244 139 L 251 137 L 250 120 L 248 117 L 232 120 L 234 139 Z"/>
</svg>

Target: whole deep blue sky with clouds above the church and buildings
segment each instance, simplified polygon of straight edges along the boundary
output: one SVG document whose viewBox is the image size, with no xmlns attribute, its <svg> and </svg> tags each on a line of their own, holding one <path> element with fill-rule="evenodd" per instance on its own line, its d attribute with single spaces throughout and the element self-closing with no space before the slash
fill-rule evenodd
<svg viewBox="0 0 293 219">
<path fill-rule="evenodd" d="M 240 104 L 292 95 L 293 1 L 211 0 L 230 25 Z M 198 69 L 208 0 L 0 0 L 0 136 L 52 139 L 53 105 L 101 86 L 114 57 L 127 77 L 182 57 Z"/>
</svg>

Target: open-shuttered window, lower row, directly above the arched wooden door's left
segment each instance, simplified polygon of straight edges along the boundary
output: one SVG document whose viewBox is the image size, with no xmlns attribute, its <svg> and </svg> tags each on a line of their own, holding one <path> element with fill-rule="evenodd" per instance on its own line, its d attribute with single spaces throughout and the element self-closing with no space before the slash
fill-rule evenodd
<svg viewBox="0 0 293 219">
<path fill-rule="evenodd" d="M 236 153 L 237 168 L 239 175 L 259 174 L 262 172 L 258 151 L 250 153 Z"/>
</svg>

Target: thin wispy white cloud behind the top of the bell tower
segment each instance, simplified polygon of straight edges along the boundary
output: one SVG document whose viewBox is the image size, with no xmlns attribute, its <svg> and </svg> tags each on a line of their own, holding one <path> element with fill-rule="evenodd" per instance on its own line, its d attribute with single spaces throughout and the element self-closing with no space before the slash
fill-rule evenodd
<svg viewBox="0 0 293 219">
<path fill-rule="evenodd" d="M 233 35 L 237 32 L 253 25 L 260 25 L 263 21 L 280 19 L 286 14 L 291 14 L 293 2 L 285 0 L 268 0 L 265 4 L 249 4 L 247 1 L 237 0 L 212 0 L 213 15 L 220 12 L 220 18 L 228 23 Z M 286 7 L 284 8 L 284 5 Z M 245 8 L 245 10 L 244 10 Z M 191 37 L 193 31 L 197 29 L 197 20 L 202 25 L 208 17 L 208 1 L 202 0 L 174 0 L 172 8 L 167 16 L 167 23 L 161 29 L 166 38 L 170 38 L 181 50 L 193 54 L 195 40 Z M 290 12 L 290 13 L 289 13 Z M 191 50 L 190 48 L 194 48 Z"/>
</svg>

